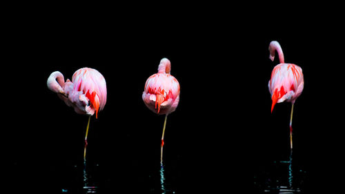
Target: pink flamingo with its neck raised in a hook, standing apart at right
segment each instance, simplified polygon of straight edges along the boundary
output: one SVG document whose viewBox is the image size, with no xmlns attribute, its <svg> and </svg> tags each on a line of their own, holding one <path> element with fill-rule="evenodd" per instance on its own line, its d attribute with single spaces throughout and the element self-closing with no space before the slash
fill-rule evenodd
<svg viewBox="0 0 345 194">
<path fill-rule="evenodd" d="M 282 48 L 277 41 L 271 41 L 268 47 L 270 51 L 270 59 L 275 59 L 275 50 L 279 55 L 280 64 L 273 68 L 270 75 L 270 81 L 268 81 L 268 90 L 272 98 L 272 106 L 270 112 L 273 112 L 273 108 L 276 103 L 283 101 L 289 101 L 292 104 L 290 115 L 290 148 L 293 148 L 293 104 L 299 95 L 301 95 L 304 87 L 304 79 L 302 68 L 295 64 L 285 64 L 284 54 Z"/>
</svg>

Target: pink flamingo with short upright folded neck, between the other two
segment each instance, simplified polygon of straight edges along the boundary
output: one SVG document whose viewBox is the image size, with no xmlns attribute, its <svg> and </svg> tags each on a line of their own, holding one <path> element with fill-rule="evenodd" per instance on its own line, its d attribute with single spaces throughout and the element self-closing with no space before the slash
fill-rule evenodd
<svg viewBox="0 0 345 194">
<path fill-rule="evenodd" d="M 164 132 L 166 130 L 166 118 L 175 111 L 179 104 L 179 81 L 170 75 L 170 61 L 161 59 L 158 72 L 146 80 L 143 92 L 143 100 L 148 109 L 158 115 L 166 115 L 164 119 L 163 133 L 161 135 L 161 163 L 163 162 Z"/>
</svg>

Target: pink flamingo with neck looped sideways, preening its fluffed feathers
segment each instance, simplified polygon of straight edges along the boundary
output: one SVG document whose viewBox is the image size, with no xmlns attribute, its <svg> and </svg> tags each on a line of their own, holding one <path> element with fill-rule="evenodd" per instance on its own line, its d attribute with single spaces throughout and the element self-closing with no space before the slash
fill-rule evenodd
<svg viewBox="0 0 345 194">
<path fill-rule="evenodd" d="M 76 113 L 89 115 L 83 155 L 85 161 L 90 117 L 96 113 L 97 119 L 97 113 L 106 105 L 106 79 L 95 69 L 81 68 L 73 74 L 72 81 L 67 79 L 65 82 L 61 72 L 55 71 L 48 77 L 47 86 Z"/>
</svg>

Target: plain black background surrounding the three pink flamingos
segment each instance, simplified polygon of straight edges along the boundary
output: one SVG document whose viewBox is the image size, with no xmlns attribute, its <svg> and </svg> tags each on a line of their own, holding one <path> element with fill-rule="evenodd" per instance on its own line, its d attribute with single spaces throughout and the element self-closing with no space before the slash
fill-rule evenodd
<svg viewBox="0 0 345 194">
<path fill-rule="evenodd" d="M 272 40 L 281 44 L 286 63 L 304 72 L 293 129 L 294 155 L 308 175 L 306 190 L 338 186 L 342 32 L 330 22 L 333 17 L 266 22 L 226 12 L 179 19 L 177 12 L 169 18 L 129 14 L 8 15 L 1 143 L 12 191 L 59 193 L 81 180 L 80 169 L 71 166 L 82 163 L 88 118 L 48 90 L 46 79 L 55 70 L 71 79 L 87 66 L 101 72 L 108 89 L 88 137 L 100 186 L 146 192 L 147 171 L 159 162 L 164 116 L 151 113 L 141 94 L 163 57 L 181 85 L 165 137 L 166 164 L 179 171 L 177 191 L 232 190 L 239 187 L 233 179 L 252 185 L 253 172 L 288 155 L 290 104 L 277 104 L 270 113 L 267 84 L 278 64 L 268 59 Z"/>
</svg>

